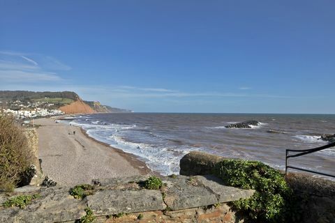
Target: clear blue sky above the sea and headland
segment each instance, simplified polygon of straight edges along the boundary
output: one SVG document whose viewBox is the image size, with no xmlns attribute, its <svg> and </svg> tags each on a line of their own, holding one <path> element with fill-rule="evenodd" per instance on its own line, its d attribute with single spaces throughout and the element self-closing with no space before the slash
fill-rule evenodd
<svg viewBox="0 0 335 223">
<path fill-rule="evenodd" d="M 0 0 L 0 89 L 135 112 L 335 113 L 335 1 Z"/>
</svg>

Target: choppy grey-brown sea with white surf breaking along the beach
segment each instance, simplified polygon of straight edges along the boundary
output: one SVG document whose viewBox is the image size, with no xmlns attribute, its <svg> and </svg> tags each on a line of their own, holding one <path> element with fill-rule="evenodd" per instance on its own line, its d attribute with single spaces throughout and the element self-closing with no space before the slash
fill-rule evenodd
<svg viewBox="0 0 335 223">
<path fill-rule="evenodd" d="M 250 120 L 260 125 L 225 128 Z M 335 133 L 334 114 L 112 113 L 75 116 L 67 123 L 136 155 L 162 175 L 179 174 L 179 160 L 191 151 L 258 160 L 284 170 L 285 149 L 323 146 L 327 141 L 320 135 Z M 335 147 L 292 158 L 289 164 L 335 175 Z"/>
</svg>

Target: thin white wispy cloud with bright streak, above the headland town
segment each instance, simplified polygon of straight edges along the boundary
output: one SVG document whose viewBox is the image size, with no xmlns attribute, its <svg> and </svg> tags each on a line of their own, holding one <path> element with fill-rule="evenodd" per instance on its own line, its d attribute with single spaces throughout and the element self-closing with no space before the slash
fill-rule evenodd
<svg viewBox="0 0 335 223">
<path fill-rule="evenodd" d="M 69 66 L 51 56 L 0 51 L 0 81 L 2 83 L 59 82 L 62 78 L 56 71 L 70 69 Z"/>
</svg>

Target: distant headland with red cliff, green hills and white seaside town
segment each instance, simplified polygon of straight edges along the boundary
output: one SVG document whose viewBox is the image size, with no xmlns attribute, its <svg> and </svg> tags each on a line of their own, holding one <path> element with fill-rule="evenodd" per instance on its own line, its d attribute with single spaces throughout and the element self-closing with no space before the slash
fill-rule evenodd
<svg viewBox="0 0 335 223">
<path fill-rule="evenodd" d="M 98 101 L 82 100 L 73 91 L 0 91 L 1 112 L 12 113 L 18 118 L 34 118 L 59 114 L 94 114 L 132 112 Z"/>
</svg>

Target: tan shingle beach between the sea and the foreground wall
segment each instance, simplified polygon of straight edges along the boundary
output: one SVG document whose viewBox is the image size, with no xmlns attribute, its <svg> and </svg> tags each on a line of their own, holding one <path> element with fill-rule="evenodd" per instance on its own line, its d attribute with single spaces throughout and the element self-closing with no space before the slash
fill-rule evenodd
<svg viewBox="0 0 335 223">
<path fill-rule="evenodd" d="M 54 118 L 40 118 L 35 124 L 41 125 L 37 132 L 43 174 L 58 185 L 91 183 L 94 178 L 151 174 L 146 164 L 134 155 L 88 137 L 79 127 L 55 123 Z"/>
</svg>

